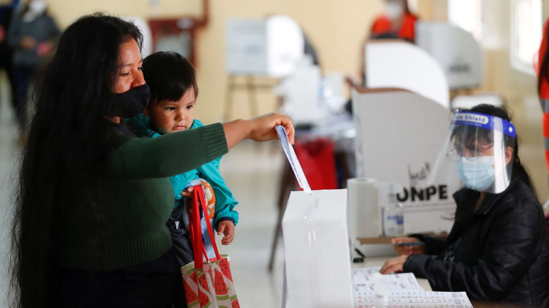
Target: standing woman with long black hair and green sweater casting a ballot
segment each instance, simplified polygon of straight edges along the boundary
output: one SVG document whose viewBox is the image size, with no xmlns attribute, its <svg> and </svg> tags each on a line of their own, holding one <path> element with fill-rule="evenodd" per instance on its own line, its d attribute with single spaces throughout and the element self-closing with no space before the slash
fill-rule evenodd
<svg viewBox="0 0 549 308">
<path fill-rule="evenodd" d="M 149 89 L 142 34 L 94 14 L 61 35 L 36 92 L 13 224 L 15 307 L 172 307 L 181 274 L 165 225 L 167 177 L 225 154 L 245 138 L 277 138 L 292 121 L 271 114 L 136 138 L 124 119 L 141 113 Z"/>
</svg>

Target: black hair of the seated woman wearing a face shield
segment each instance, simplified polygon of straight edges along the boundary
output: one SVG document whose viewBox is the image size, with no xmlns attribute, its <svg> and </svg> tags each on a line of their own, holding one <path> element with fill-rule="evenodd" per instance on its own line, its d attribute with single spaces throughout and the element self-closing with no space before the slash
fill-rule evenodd
<svg viewBox="0 0 549 308">
<path fill-rule="evenodd" d="M 503 120 L 511 122 L 511 116 L 507 112 L 506 108 L 495 107 L 489 104 L 480 104 L 478 106 L 475 106 L 469 109 L 469 111 L 492 115 L 493 117 L 498 117 Z M 491 132 L 488 130 L 478 129 L 478 130 L 468 130 L 464 136 L 460 136 L 460 132 L 456 130 L 455 132 L 453 132 L 452 137 L 460 138 L 460 141 L 463 142 L 466 147 L 470 148 L 470 147 L 474 147 L 474 145 L 468 144 L 468 141 L 472 139 L 469 137 L 474 137 L 473 139 L 480 137 L 480 138 L 484 138 L 487 142 L 490 142 L 490 141 L 493 142 L 493 136 L 491 136 L 490 133 Z M 528 175 L 528 172 L 520 162 L 520 157 L 518 155 L 518 149 L 519 149 L 518 135 L 516 136 L 516 138 L 512 138 L 510 136 L 505 135 L 504 143 L 505 143 L 505 146 L 511 146 L 512 144 L 514 144 L 513 165 L 511 170 L 509 170 L 511 171 L 511 181 L 520 180 L 524 182 L 526 185 L 528 185 L 528 187 L 532 190 L 532 192 L 535 195 L 536 189 L 532 184 L 530 175 Z M 456 222 L 463 223 L 470 217 L 470 215 L 475 210 L 475 203 L 478 200 L 479 196 L 480 196 L 480 193 L 478 193 L 478 191 L 468 190 L 468 195 L 467 195 L 468 201 L 466 202 L 466 208 L 459 209 L 458 210 L 459 212 L 456 212 Z"/>
</svg>

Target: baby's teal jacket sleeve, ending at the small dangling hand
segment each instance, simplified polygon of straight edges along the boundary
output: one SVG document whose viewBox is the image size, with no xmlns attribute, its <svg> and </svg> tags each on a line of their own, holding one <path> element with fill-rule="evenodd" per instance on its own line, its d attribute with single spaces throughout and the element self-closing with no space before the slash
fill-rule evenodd
<svg viewBox="0 0 549 308">
<path fill-rule="evenodd" d="M 214 226 L 217 226 L 223 220 L 231 220 L 234 225 L 238 224 L 238 212 L 234 207 L 238 205 L 238 201 L 234 199 L 233 193 L 225 184 L 225 179 L 221 176 L 219 170 L 221 158 L 217 158 L 208 164 L 198 167 L 200 177 L 210 183 L 215 193 L 215 212 Z"/>
</svg>

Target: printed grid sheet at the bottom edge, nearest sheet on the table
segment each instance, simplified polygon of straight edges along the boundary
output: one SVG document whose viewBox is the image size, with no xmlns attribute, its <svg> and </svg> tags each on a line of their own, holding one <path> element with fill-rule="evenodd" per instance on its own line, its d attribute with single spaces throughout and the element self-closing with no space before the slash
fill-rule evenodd
<svg viewBox="0 0 549 308">
<path fill-rule="evenodd" d="M 355 294 L 355 308 L 374 308 L 373 292 Z M 465 292 L 395 291 L 387 308 L 473 308 Z"/>
</svg>

